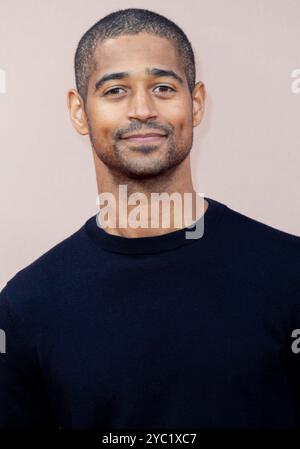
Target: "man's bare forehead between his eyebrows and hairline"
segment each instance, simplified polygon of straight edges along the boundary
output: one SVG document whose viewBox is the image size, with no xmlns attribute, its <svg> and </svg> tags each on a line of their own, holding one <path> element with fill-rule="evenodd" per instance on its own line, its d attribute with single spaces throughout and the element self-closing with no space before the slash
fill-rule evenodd
<svg viewBox="0 0 300 449">
<path fill-rule="evenodd" d="M 173 69 L 184 74 L 172 42 L 149 33 L 106 39 L 97 46 L 94 60 L 94 76 L 111 71 L 144 71 L 148 66 Z"/>
</svg>

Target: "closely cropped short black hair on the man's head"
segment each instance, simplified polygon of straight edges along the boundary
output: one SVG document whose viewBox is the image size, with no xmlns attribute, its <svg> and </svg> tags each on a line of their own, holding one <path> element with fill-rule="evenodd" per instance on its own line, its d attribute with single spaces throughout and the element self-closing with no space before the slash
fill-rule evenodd
<svg viewBox="0 0 300 449">
<path fill-rule="evenodd" d="M 80 39 L 75 52 L 76 88 L 86 103 L 88 82 L 96 68 L 94 52 L 105 39 L 146 32 L 171 41 L 183 63 L 183 69 L 192 93 L 195 87 L 195 57 L 187 36 L 170 19 L 147 9 L 119 9 L 96 22 Z"/>
</svg>

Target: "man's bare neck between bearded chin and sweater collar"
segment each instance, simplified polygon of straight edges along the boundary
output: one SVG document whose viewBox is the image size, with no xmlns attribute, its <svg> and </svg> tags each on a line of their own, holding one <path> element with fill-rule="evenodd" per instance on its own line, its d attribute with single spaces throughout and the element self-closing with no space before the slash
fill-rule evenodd
<svg viewBox="0 0 300 449">
<path fill-rule="evenodd" d="M 95 162 L 99 221 L 109 234 L 131 238 L 167 234 L 190 226 L 208 207 L 193 187 L 190 156 L 172 170 L 146 179 L 115 173 L 98 158 Z"/>
</svg>

